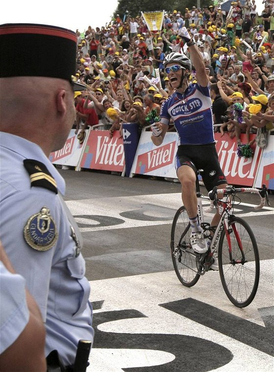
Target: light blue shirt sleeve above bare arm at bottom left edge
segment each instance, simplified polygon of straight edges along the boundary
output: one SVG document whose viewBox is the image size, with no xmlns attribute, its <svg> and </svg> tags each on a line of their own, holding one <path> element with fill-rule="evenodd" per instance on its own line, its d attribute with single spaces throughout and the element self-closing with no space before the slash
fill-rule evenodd
<svg viewBox="0 0 274 372">
<path fill-rule="evenodd" d="M 28 320 L 25 279 L 0 261 L 0 354 L 17 340 Z"/>
</svg>

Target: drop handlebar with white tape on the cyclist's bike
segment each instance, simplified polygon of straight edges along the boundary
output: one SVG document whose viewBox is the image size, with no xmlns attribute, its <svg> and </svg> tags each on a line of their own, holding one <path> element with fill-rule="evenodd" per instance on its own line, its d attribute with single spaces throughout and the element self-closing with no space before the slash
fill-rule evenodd
<svg viewBox="0 0 274 372">
<path fill-rule="evenodd" d="M 227 186 L 227 188 L 217 188 L 216 186 L 213 188 L 213 190 L 209 191 L 208 196 L 210 199 L 210 206 L 205 209 L 205 212 L 210 212 L 212 209 L 214 209 L 214 206 L 216 205 L 218 201 L 218 194 L 224 194 L 224 196 L 229 195 L 235 195 L 238 192 L 250 192 L 253 194 L 260 195 L 261 203 L 258 206 L 255 206 L 254 209 L 261 209 L 264 207 L 265 202 L 267 202 L 268 205 L 269 199 L 268 199 L 268 191 L 266 185 L 263 185 L 262 190 L 258 190 L 257 188 L 253 187 L 234 187 L 234 186 Z"/>
</svg>

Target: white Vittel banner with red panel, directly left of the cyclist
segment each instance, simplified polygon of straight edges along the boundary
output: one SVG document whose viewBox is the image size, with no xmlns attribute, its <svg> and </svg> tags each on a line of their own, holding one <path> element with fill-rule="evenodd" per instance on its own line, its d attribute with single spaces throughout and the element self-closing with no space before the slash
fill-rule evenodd
<svg viewBox="0 0 274 372">
<path fill-rule="evenodd" d="M 151 140 L 151 132 L 142 132 L 132 173 L 176 178 L 173 164 L 177 141 L 177 133 L 166 133 L 163 143 L 155 146 Z"/>
</svg>

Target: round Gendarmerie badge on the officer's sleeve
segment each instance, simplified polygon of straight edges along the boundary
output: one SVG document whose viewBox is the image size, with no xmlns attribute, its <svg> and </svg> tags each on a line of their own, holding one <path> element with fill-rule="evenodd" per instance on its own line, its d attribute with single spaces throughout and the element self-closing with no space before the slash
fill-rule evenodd
<svg viewBox="0 0 274 372">
<path fill-rule="evenodd" d="M 33 214 L 24 227 L 25 241 L 37 251 L 47 251 L 52 248 L 57 237 L 55 222 L 46 207 L 43 207 L 39 213 Z"/>
</svg>

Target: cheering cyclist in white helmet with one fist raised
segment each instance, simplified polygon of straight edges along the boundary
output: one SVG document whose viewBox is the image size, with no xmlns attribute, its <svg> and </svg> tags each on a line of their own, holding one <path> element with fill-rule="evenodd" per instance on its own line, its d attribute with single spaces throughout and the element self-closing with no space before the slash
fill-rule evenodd
<svg viewBox="0 0 274 372">
<path fill-rule="evenodd" d="M 196 171 L 203 169 L 203 181 L 208 191 L 214 186 L 225 188 L 227 181 L 215 148 L 212 102 L 205 64 L 185 27 L 178 31 L 178 35 L 186 42 L 192 63 L 184 54 L 177 52 L 165 57 L 163 65 L 174 93 L 161 106 L 160 122 L 151 125 L 151 139 L 159 146 L 170 119 L 174 121 L 180 140 L 175 167 L 182 184 L 183 205 L 191 225 L 191 245 L 195 252 L 202 254 L 207 251 L 207 245 L 197 216 Z M 196 70 L 197 84 L 189 84 L 188 81 L 192 64 Z M 216 226 L 219 219 L 217 211 L 211 226 Z M 214 259 L 211 268 L 218 270 L 217 258 Z"/>
</svg>

